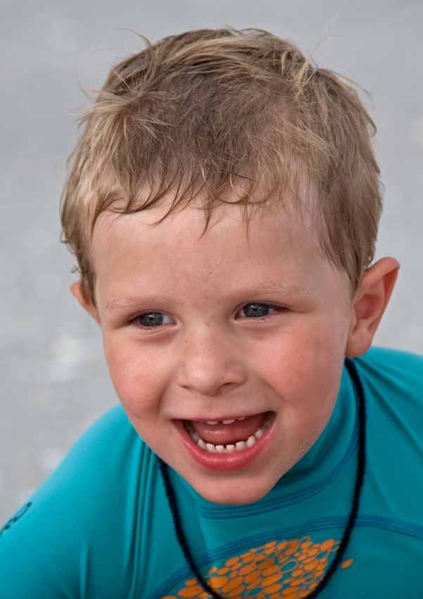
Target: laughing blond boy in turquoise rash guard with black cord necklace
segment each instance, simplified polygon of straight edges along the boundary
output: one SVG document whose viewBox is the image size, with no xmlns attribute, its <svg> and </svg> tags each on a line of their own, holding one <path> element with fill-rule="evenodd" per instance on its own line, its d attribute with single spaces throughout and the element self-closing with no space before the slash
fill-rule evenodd
<svg viewBox="0 0 423 599">
<path fill-rule="evenodd" d="M 199 30 L 82 120 L 64 240 L 122 407 L 4 527 L 1 598 L 419 597 L 423 361 L 370 350 L 399 265 L 358 95 Z"/>
</svg>

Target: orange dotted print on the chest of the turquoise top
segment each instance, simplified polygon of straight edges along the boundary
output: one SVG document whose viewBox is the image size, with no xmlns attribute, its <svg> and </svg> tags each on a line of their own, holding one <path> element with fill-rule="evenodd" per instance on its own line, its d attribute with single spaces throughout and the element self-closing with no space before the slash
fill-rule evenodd
<svg viewBox="0 0 423 599">
<path fill-rule="evenodd" d="M 310 537 L 266 543 L 242 555 L 231 557 L 225 566 L 213 566 L 204 576 L 222 597 L 229 599 L 301 599 L 306 597 L 324 576 L 329 556 L 339 542 L 329 539 L 312 543 Z M 353 560 L 346 560 L 348 567 Z M 163 599 L 208 599 L 198 581 L 185 581 L 176 595 Z"/>
</svg>

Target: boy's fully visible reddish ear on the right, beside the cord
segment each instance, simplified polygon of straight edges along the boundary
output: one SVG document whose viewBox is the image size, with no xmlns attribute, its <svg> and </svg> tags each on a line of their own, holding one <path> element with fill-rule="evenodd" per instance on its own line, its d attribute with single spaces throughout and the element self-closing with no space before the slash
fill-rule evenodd
<svg viewBox="0 0 423 599">
<path fill-rule="evenodd" d="M 355 293 L 346 356 L 361 356 L 370 348 L 379 322 L 393 292 L 400 264 L 395 258 L 382 258 L 365 271 Z"/>
</svg>

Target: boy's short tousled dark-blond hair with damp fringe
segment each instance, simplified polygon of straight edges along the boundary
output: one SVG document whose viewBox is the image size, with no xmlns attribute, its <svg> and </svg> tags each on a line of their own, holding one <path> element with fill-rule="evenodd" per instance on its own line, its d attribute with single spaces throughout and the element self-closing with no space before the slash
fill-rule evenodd
<svg viewBox="0 0 423 599">
<path fill-rule="evenodd" d="M 87 300 L 99 214 L 169 194 L 169 211 L 197 199 L 208 222 L 222 202 L 282 206 L 308 180 L 322 252 L 352 290 L 372 262 L 382 205 L 374 123 L 351 85 L 291 42 L 255 29 L 146 42 L 112 68 L 80 121 L 61 218 Z"/>
</svg>

